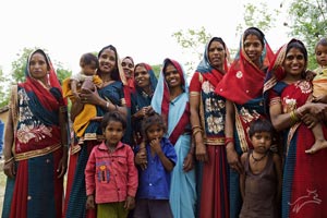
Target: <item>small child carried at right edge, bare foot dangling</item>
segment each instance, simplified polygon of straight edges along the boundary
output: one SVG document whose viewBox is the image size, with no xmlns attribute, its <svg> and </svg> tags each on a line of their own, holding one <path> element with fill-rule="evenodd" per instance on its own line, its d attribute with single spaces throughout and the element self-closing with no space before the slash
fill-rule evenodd
<svg viewBox="0 0 327 218">
<path fill-rule="evenodd" d="M 316 60 L 319 66 L 314 71 L 313 83 L 313 101 L 327 104 L 327 38 L 322 38 L 315 48 Z M 315 136 L 315 144 L 305 153 L 314 154 L 327 147 L 327 141 L 322 130 L 323 123 L 317 123 L 312 128 Z"/>
</svg>

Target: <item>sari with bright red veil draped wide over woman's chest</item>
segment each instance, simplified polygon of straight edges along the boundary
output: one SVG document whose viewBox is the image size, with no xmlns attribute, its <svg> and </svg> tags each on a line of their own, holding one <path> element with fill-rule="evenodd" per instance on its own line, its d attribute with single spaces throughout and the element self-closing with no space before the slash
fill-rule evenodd
<svg viewBox="0 0 327 218">
<path fill-rule="evenodd" d="M 251 27 L 259 33 L 259 29 Z M 274 58 L 268 43 L 266 41 L 264 34 L 264 50 L 262 52 L 261 62 L 262 69 L 257 68 L 244 51 L 244 36 L 241 37 L 240 50 L 231 64 L 227 75 L 217 85 L 216 93 L 230 100 L 234 105 L 235 109 L 235 124 L 234 130 L 234 148 L 239 156 L 242 153 L 252 148 L 247 131 L 252 121 L 262 117 L 267 118 L 267 111 L 264 106 L 263 87 L 266 69 Z M 229 197 L 230 197 L 230 217 L 239 217 L 242 197 L 240 192 L 240 179 L 239 173 L 229 170 Z"/>
</svg>

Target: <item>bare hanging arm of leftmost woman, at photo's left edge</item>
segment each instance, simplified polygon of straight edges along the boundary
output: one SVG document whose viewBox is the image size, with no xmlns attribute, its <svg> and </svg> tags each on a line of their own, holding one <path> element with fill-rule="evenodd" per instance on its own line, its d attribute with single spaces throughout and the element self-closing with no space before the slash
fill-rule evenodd
<svg viewBox="0 0 327 218">
<path fill-rule="evenodd" d="M 9 108 L 8 113 L 8 122 L 5 124 L 4 131 L 4 144 L 3 144 L 3 157 L 4 157 L 4 165 L 3 165 L 3 172 L 9 178 L 14 178 L 16 172 L 14 168 L 14 157 L 12 154 L 12 147 L 14 143 L 14 124 L 13 124 L 13 117 L 12 110 Z"/>
</svg>

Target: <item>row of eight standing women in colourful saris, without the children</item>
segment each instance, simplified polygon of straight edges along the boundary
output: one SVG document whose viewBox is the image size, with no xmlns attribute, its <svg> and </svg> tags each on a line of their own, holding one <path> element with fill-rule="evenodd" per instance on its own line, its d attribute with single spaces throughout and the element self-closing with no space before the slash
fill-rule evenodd
<svg viewBox="0 0 327 218">
<path fill-rule="evenodd" d="M 292 39 L 274 55 L 264 34 L 250 27 L 230 65 L 227 58 L 225 41 L 213 37 L 189 86 L 175 60 L 164 60 L 157 81 L 150 65 L 134 65 L 131 57 L 121 63 L 113 46 L 102 48 L 97 74 L 104 86 L 84 92 L 71 108 L 74 120 L 84 104 L 97 107 L 85 131 L 92 137 L 83 138 L 83 145 L 74 138 L 68 165 L 66 101 L 49 58 L 43 50 L 32 52 L 26 82 L 12 92 L 2 217 L 95 217 L 95 210 L 85 209 L 84 170 L 92 148 L 104 140 L 99 118 L 111 110 L 128 118 L 123 142 L 132 146 L 142 142 L 145 116 L 154 110 L 164 117 L 178 155 L 170 190 L 177 218 L 239 217 L 240 155 L 252 148 L 247 130 L 259 118 L 282 133 L 282 217 L 327 217 L 327 175 L 319 173 L 327 149 L 305 154 L 314 144 L 308 126 L 317 117 L 326 121 L 327 106 L 306 102 L 312 87 L 305 78 L 305 46 Z"/>
</svg>

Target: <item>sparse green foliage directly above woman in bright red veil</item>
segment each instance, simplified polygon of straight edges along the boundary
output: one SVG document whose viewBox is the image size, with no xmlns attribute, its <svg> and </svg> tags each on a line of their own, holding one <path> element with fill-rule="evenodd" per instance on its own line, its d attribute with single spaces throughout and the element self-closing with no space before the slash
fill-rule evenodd
<svg viewBox="0 0 327 218">
<path fill-rule="evenodd" d="M 258 5 L 246 3 L 244 7 L 244 20 L 237 26 L 237 34 L 242 34 L 245 28 L 254 26 L 264 33 L 275 27 L 276 17 L 280 11 L 270 9 L 266 2 L 259 2 Z"/>
</svg>

